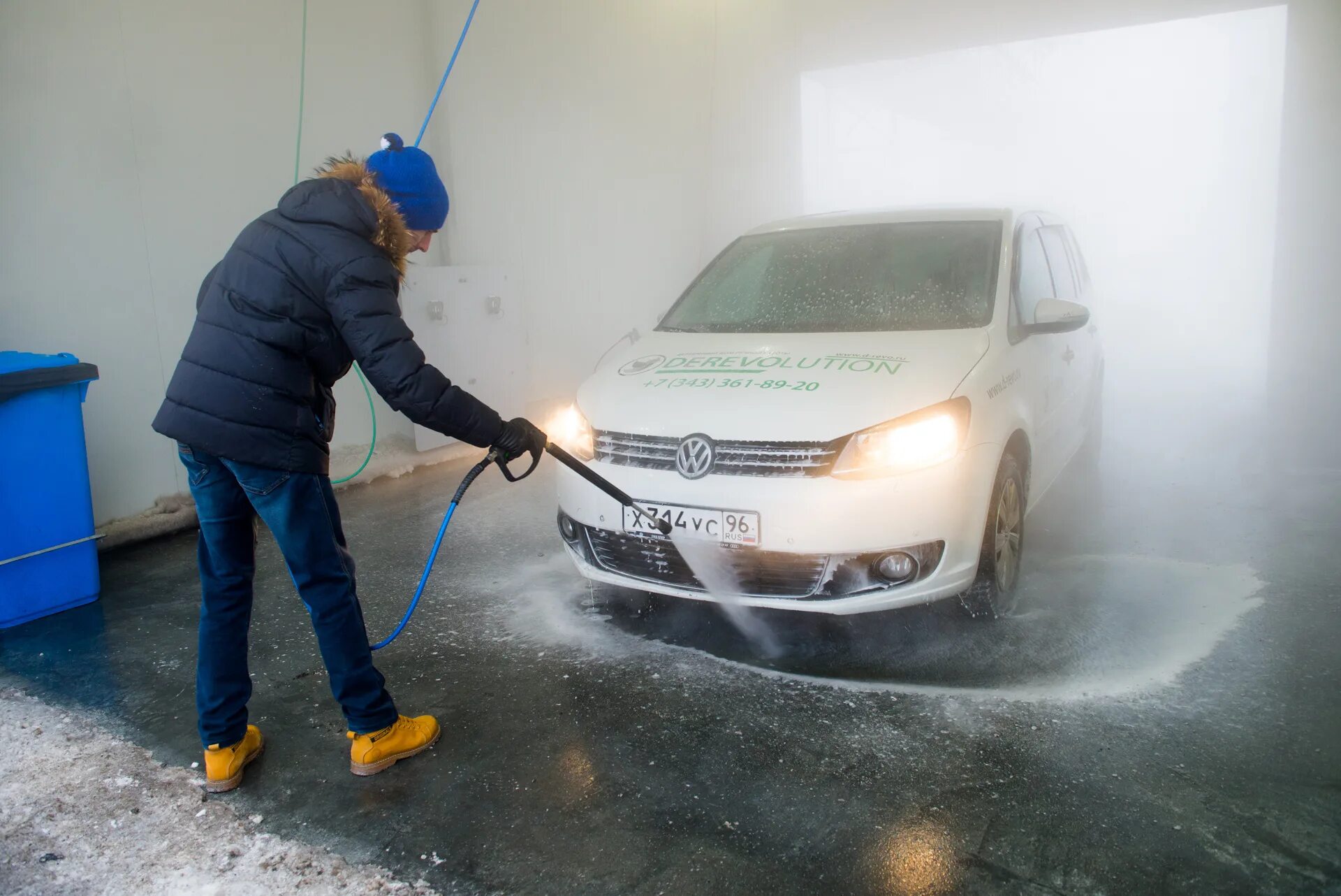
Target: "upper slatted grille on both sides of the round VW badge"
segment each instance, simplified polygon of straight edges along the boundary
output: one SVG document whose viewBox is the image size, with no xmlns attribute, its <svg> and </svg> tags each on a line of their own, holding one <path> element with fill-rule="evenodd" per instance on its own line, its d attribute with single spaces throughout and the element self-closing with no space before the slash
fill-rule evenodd
<svg viewBox="0 0 1341 896">
<path fill-rule="evenodd" d="M 826 476 L 838 455 L 833 441 L 717 441 L 708 472 L 720 476 Z M 617 467 L 675 469 L 679 439 L 595 433 L 595 459 Z"/>
</svg>

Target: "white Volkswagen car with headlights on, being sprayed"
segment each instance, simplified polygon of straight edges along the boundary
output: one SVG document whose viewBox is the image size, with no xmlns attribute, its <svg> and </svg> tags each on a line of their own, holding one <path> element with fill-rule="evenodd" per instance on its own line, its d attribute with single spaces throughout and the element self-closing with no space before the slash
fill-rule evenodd
<svg viewBox="0 0 1341 896">
<path fill-rule="evenodd" d="M 1104 358 L 1085 262 L 1042 212 L 919 209 L 770 224 L 551 436 L 677 538 L 721 546 L 740 602 L 1012 609 L 1027 512 L 1097 448 Z M 559 469 L 587 578 L 715 600 L 670 538 Z M 697 553 L 697 551 L 695 551 Z"/>
</svg>

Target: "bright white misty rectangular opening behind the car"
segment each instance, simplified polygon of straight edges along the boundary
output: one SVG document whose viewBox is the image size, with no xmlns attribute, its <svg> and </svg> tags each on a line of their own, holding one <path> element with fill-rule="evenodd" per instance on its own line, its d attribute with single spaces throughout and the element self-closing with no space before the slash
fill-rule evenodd
<svg viewBox="0 0 1341 896">
<path fill-rule="evenodd" d="M 1061 215 L 1118 400 L 1266 382 L 1286 9 L 802 78 L 807 212 L 964 203 Z"/>
</svg>

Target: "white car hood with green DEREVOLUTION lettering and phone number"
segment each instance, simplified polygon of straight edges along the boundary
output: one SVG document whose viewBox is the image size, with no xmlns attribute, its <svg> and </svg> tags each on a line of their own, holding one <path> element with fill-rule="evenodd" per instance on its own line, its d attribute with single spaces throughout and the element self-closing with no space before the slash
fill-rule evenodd
<svg viewBox="0 0 1341 896">
<path fill-rule="evenodd" d="M 952 397 L 986 330 L 653 333 L 578 390 L 595 429 L 827 441 Z"/>
</svg>

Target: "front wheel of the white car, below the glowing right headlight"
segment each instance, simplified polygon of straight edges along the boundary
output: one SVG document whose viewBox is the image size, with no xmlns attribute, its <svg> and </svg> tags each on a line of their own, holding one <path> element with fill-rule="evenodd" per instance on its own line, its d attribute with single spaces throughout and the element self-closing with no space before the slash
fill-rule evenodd
<svg viewBox="0 0 1341 896">
<path fill-rule="evenodd" d="M 1018 600 L 1019 559 L 1025 546 L 1025 475 L 1015 455 L 1002 457 L 987 506 L 987 526 L 978 561 L 978 578 L 959 596 L 974 618 L 1010 616 Z"/>
</svg>

